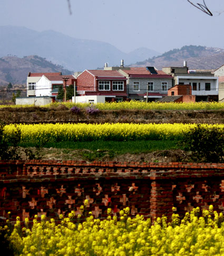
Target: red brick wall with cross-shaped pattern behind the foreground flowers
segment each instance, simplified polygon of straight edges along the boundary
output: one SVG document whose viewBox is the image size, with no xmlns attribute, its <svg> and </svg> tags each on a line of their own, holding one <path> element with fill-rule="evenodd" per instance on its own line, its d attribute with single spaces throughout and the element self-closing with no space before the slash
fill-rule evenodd
<svg viewBox="0 0 224 256">
<path fill-rule="evenodd" d="M 87 211 L 106 217 L 129 206 L 132 216 L 170 218 L 193 207 L 224 207 L 224 164 L 0 161 L 0 217 L 48 217 Z"/>
</svg>

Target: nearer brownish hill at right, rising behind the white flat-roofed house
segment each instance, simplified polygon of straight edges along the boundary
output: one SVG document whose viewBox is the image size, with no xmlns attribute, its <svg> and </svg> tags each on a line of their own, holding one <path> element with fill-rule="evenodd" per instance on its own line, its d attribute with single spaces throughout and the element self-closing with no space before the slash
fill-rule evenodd
<svg viewBox="0 0 224 256">
<path fill-rule="evenodd" d="M 224 64 L 224 49 L 186 45 L 181 49 L 173 49 L 160 56 L 137 62 L 133 66 L 154 66 L 157 69 L 181 67 L 184 60 L 187 61 L 190 69 L 217 69 Z"/>
</svg>

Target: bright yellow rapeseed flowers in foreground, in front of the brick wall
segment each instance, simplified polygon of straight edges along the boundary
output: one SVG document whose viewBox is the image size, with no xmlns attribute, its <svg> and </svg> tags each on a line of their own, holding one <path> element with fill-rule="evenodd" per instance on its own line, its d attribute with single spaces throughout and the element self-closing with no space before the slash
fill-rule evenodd
<svg viewBox="0 0 224 256">
<path fill-rule="evenodd" d="M 95 219 L 92 213 L 82 223 L 74 222 L 74 211 L 61 217 L 55 224 L 45 215 L 33 224 L 25 220 L 21 230 L 17 217 L 9 241 L 18 256 L 221 256 L 224 255 L 224 223 L 222 213 L 213 212 L 213 207 L 203 210 L 197 207 L 186 213 L 182 221 L 177 214 L 172 222 L 157 218 L 151 225 L 150 218 L 129 217 L 130 208 L 120 211 L 119 217 L 111 216 L 108 209 L 106 220 Z M 77 221 L 77 218 L 76 218 Z M 10 223 L 3 228 L 9 230 Z"/>
</svg>

